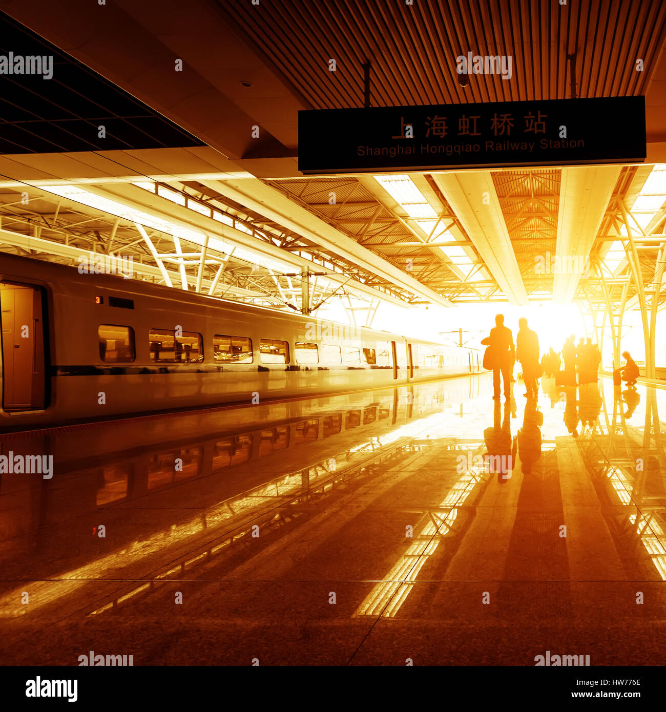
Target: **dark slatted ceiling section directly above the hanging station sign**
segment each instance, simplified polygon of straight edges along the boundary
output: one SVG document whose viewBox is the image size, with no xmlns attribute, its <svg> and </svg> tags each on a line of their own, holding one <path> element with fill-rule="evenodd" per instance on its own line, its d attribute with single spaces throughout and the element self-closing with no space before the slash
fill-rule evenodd
<svg viewBox="0 0 666 712">
<path fill-rule="evenodd" d="M 373 106 L 568 98 L 573 52 L 579 97 L 640 95 L 666 28 L 666 3 L 657 0 L 218 4 L 312 108 L 363 106 L 366 59 Z M 455 58 L 468 51 L 511 55 L 513 78 L 472 75 L 461 88 Z"/>
</svg>

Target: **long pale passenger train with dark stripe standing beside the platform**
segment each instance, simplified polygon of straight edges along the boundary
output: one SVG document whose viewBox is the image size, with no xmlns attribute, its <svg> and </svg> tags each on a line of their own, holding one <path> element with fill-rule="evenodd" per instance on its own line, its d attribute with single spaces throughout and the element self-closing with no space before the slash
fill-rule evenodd
<svg viewBox="0 0 666 712">
<path fill-rule="evenodd" d="M 12 429 L 479 371 L 472 349 L 9 255 L 0 304 Z"/>
</svg>

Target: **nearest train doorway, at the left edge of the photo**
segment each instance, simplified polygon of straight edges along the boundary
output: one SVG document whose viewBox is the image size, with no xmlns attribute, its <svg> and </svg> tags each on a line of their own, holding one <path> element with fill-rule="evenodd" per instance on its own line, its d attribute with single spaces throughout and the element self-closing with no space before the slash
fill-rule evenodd
<svg viewBox="0 0 666 712">
<path fill-rule="evenodd" d="M 42 289 L 0 282 L 2 407 L 41 410 L 46 397 Z"/>
</svg>

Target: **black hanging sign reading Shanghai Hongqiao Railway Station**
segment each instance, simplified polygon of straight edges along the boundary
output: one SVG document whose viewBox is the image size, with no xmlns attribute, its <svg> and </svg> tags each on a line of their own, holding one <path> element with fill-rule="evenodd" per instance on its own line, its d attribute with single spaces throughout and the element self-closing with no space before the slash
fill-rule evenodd
<svg viewBox="0 0 666 712">
<path fill-rule="evenodd" d="M 645 161 L 645 97 L 298 112 L 305 174 Z"/>
</svg>

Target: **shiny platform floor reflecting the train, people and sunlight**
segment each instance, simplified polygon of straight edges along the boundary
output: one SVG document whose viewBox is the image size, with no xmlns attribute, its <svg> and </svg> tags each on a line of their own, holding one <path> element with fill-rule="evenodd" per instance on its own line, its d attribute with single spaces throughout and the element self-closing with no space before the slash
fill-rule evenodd
<svg viewBox="0 0 666 712">
<path fill-rule="evenodd" d="M 663 664 L 666 390 L 523 392 L 0 436 L 0 664 Z"/>
</svg>

